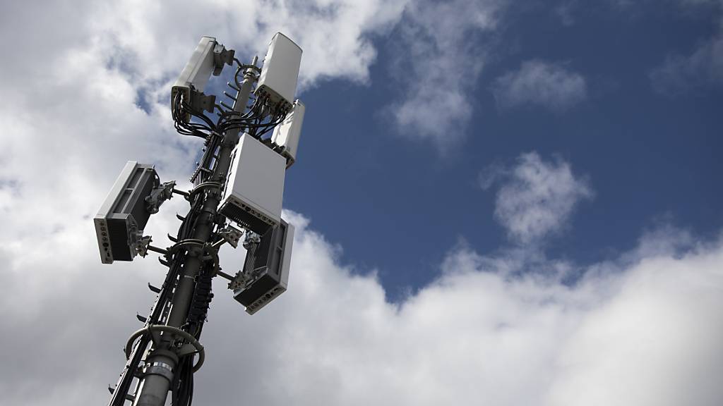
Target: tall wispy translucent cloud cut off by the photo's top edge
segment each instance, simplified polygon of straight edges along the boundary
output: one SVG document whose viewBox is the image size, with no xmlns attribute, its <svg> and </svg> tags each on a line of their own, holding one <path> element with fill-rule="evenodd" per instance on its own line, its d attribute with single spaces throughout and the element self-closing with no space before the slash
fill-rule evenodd
<svg viewBox="0 0 723 406">
<path fill-rule="evenodd" d="M 472 115 L 472 94 L 487 60 L 484 44 L 490 42 L 507 3 L 409 5 L 399 25 L 393 68 L 405 94 L 388 106 L 402 134 L 431 139 L 441 147 L 458 139 Z"/>
</svg>

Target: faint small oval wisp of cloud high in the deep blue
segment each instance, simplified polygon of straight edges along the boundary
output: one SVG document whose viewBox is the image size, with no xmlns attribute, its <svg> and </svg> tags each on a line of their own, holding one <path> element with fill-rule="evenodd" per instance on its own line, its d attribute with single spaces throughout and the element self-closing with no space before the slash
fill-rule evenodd
<svg viewBox="0 0 723 406">
<path fill-rule="evenodd" d="M 492 92 L 501 108 L 539 105 L 561 112 L 587 98 L 587 85 L 581 74 L 561 64 L 532 60 L 495 79 Z"/>
</svg>

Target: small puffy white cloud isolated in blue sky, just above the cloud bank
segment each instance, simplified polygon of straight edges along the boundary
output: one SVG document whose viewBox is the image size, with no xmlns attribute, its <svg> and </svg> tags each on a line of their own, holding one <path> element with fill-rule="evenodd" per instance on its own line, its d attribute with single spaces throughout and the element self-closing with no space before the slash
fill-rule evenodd
<svg viewBox="0 0 723 406">
<path fill-rule="evenodd" d="M 557 233 L 578 202 L 594 195 L 584 178 L 573 175 L 570 164 L 559 159 L 545 162 L 536 152 L 520 155 L 514 168 L 488 168 L 480 176 L 480 185 L 489 189 L 497 180 L 502 186 L 497 191 L 495 218 L 520 243 Z"/>
</svg>

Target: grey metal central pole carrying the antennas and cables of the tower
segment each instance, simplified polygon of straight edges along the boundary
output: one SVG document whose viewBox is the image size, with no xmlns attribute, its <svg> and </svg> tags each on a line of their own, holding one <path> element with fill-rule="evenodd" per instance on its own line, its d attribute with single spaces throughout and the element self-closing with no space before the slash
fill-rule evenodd
<svg viewBox="0 0 723 406">
<path fill-rule="evenodd" d="M 254 57 L 252 65 L 255 66 L 256 62 L 257 58 Z M 244 113 L 249 94 L 256 79 L 253 69 L 247 68 L 244 72 L 241 87 L 236 92 L 234 111 Z M 225 181 L 229 165 L 231 165 L 231 151 L 234 150 L 236 143 L 239 141 L 240 131 L 241 129 L 236 128 L 223 134 L 221 147 L 218 151 L 218 160 L 209 181 L 219 184 Z M 220 189 L 207 190 L 202 191 L 202 193 L 205 193 L 203 207 L 194 224 L 193 234 L 194 240 L 203 243 L 211 242 L 210 237 L 217 224 L 218 204 L 221 201 Z M 196 285 L 195 278 L 203 266 L 203 254 L 203 249 L 200 246 L 188 249 L 184 264 L 180 269 L 179 280 L 176 284 L 171 309 L 166 321 L 166 325 L 169 327 L 181 328 L 186 321 Z M 171 342 L 175 338 L 176 334 L 164 334 L 161 336 L 161 342 L 154 343 L 145 360 L 145 375 L 140 379 L 137 386 L 134 406 L 163 406 L 166 404 L 171 382 L 176 378 L 177 367 L 179 366 L 179 358 L 174 348 L 171 347 Z"/>
</svg>

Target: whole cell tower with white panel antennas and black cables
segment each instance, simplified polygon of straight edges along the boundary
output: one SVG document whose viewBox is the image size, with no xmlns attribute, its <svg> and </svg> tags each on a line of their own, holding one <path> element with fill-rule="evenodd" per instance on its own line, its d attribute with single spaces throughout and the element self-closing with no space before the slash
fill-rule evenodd
<svg viewBox="0 0 723 406">
<path fill-rule="evenodd" d="M 100 260 L 132 261 L 149 251 L 168 267 L 145 325 L 125 346 L 127 363 L 109 406 L 188 406 L 193 374 L 203 365 L 200 335 L 206 320 L 211 280 L 228 280 L 234 298 L 254 314 L 286 291 L 294 227 L 281 218 L 286 170 L 296 160 L 304 104 L 294 100 L 301 48 L 281 33 L 274 35 L 262 67 L 254 57 L 242 64 L 234 51 L 202 37 L 171 88 L 176 130 L 204 139 L 202 158 L 191 176 L 192 189 L 161 183 L 153 165 L 129 161 L 95 216 Z M 216 103 L 203 90 L 211 74 L 236 65 L 233 101 Z M 270 133 L 270 135 L 268 135 Z M 161 204 L 178 194 L 189 202 L 171 246 L 151 245 L 143 230 Z M 236 275 L 221 271 L 218 249 L 234 248 L 243 238 L 246 259 Z"/>
</svg>

